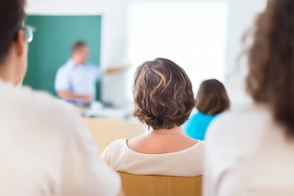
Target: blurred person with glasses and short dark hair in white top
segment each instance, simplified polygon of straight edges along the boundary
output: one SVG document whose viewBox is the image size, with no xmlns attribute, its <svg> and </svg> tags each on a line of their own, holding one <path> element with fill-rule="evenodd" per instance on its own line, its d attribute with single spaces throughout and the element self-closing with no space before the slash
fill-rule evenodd
<svg viewBox="0 0 294 196">
<path fill-rule="evenodd" d="M 120 178 L 76 110 L 20 86 L 35 31 L 23 25 L 24 7 L 0 1 L 0 195 L 117 196 Z"/>
</svg>

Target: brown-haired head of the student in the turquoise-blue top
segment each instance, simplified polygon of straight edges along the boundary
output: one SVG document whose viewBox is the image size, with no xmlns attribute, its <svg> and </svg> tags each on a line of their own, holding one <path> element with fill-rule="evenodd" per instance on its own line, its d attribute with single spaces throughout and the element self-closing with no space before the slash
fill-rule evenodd
<svg viewBox="0 0 294 196">
<path fill-rule="evenodd" d="M 207 115 L 217 115 L 230 108 L 230 99 L 223 84 L 216 79 L 201 83 L 196 96 L 196 108 Z"/>
</svg>

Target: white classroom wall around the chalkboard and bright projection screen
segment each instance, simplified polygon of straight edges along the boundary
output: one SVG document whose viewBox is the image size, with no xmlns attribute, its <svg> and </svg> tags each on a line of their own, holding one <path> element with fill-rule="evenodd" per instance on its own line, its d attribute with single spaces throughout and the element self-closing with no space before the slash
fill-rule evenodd
<svg viewBox="0 0 294 196">
<path fill-rule="evenodd" d="M 101 14 L 102 42 L 101 66 L 127 63 L 126 33 L 127 5 L 131 2 L 170 2 L 184 0 L 28 0 L 28 14 Z M 197 1 L 197 0 L 185 0 Z M 200 0 L 198 0 L 200 1 Z M 240 39 L 251 24 L 256 13 L 264 7 L 266 0 L 227 0 L 229 2 L 229 26 L 227 40 L 226 74 L 229 94 L 235 103 L 243 103 L 249 99 L 243 90 L 243 79 L 246 69 L 236 69 L 236 58 L 241 51 Z M 233 76 L 232 76 L 233 75 Z M 235 77 L 234 75 L 238 75 Z M 102 99 L 123 103 L 125 95 L 126 74 L 106 77 L 102 85 Z M 232 85 L 233 84 L 233 85 Z"/>
</svg>

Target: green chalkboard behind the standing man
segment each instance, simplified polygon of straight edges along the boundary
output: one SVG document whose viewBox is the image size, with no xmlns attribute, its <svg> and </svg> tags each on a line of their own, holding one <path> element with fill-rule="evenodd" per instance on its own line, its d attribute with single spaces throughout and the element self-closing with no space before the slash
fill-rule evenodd
<svg viewBox="0 0 294 196">
<path fill-rule="evenodd" d="M 89 62 L 100 64 L 101 16 L 29 15 L 25 23 L 34 26 L 36 32 L 34 40 L 29 44 L 24 85 L 56 96 L 56 72 L 71 57 L 71 47 L 77 40 L 89 43 Z M 96 98 L 100 99 L 99 84 Z"/>
</svg>

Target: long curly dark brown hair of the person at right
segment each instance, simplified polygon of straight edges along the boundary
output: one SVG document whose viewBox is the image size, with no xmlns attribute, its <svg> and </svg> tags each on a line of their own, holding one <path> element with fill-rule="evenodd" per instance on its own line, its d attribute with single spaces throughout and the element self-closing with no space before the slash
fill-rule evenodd
<svg viewBox="0 0 294 196">
<path fill-rule="evenodd" d="M 247 92 L 294 136 L 294 0 L 268 0 L 247 52 Z"/>
</svg>

